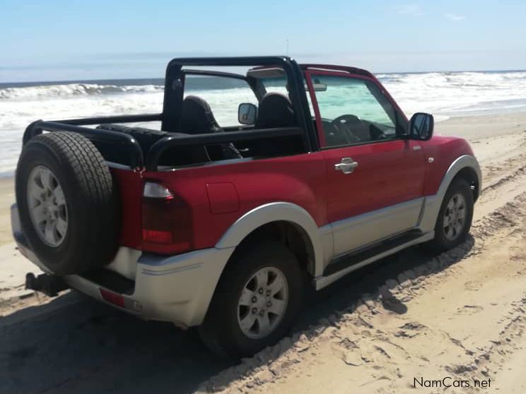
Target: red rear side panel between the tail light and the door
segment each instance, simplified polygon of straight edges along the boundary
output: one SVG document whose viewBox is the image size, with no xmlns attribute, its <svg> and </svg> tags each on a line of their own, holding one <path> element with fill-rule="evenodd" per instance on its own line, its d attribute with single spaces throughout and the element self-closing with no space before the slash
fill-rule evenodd
<svg viewBox="0 0 526 394">
<path fill-rule="evenodd" d="M 327 224 L 326 170 L 322 152 L 207 165 L 172 172 L 145 172 L 144 179 L 160 181 L 192 211 L 192 247 L 214 246 L 228 227 L 253 208 L 286 201 L 304 208 L 318 226 Z M 228 186 L 210 193 L 207 185 L 231 184 L 238 193 L 239 208 L 225 200 L 233 196 Z M 216 188 L 216 186 L 214 186 Z M 212 208 L 211 208 L 212 207 Z M 223 213 L 214 213 L 223 210 Z M 177 223 L 173 224 L 177 226 Z M 164 253 L 170 250 L 164 249 Z"/>
</svg>

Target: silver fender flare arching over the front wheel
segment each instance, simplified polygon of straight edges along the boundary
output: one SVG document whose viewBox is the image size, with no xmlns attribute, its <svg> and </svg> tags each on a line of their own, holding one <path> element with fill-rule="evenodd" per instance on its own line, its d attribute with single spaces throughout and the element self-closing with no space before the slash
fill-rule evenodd
<svg viewBox="0 0 526 394">
<path fill-rule="evenodd" d="M 482 190 L 482 174 L 479 162 L 473 155 L 462 155 L 458 157 L 454 162 L 451 163 L 448 171 L 445 172 L 445 175 L 440 182 L 440 186 L 438 186 L 438 191 L 436 194 L 433 196 L 426 196 L 423 206 L 423 215 L 419 225 L 422 232 L 429 232 L 435 228 L 440 205 L 442 205 L 443 198 L 446 191 L 448 191 L 451 181 L 456 177 L 461 169 L 467 167 L 473 169 L 475 174 L 477 174 L 477 185 L 479 187 L 477 192 L 480 194 L 480 191 Z"/>
</svg>

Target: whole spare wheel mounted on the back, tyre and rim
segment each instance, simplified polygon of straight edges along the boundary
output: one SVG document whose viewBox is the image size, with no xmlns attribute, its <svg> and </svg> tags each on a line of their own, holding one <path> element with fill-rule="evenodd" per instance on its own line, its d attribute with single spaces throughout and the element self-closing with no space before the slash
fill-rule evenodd
<svg viewBox="0 0 526 394">
<path fill-rule="evenodd" d="M 31 138 L 16 169 L 21 225 L 39 260 L 57 275 L 100 268 L 119 240 L 117 187 L 100 152 L 77 133 Z"/>
</svg>

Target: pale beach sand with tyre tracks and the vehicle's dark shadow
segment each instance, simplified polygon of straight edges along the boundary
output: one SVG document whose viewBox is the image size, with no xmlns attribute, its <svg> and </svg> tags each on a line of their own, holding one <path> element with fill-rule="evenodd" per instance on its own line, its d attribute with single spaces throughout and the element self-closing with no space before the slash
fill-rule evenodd
<svg viewBox="0 0 526 394">
<path fill-rule="evenodd" d="M 471 237 L 456 249 L 417 246 L 348 275 L 310 296 L 290 337 L 230 366 L 192 331 L 71 292 L 11 293 L 0 392 L 525 393 L 526 114 L 454 118 L 436 132 L 466 136 L 484 174 Z M 9 286 L 25 264 L 15 253 L 0 248 Z"/>
</svg>

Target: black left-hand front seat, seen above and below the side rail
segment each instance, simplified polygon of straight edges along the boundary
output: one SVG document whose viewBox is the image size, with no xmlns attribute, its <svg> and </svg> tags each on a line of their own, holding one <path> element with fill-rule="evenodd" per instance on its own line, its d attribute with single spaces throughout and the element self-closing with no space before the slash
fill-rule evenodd
<svg viewBox="0 0 526 394">
<path fill-rule="evenodd" d="M 205 100 L 187 96 L 182 102 L 178 131 L 186 134 L 224 133 Z M 233 143 L 206 145 L 210 160 L 238 159 L 242 157 Z"/>
</svg>

